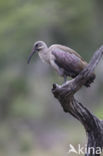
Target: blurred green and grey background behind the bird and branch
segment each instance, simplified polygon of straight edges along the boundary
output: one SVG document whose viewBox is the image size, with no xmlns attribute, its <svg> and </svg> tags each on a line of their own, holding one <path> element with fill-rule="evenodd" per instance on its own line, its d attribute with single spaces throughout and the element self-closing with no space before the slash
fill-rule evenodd
<svg viewBox="0 0 103 156">
<path fill-rule="evenodd" d="M 0 0 L 0 156 L 64 156 L 86 143 L 51 88 L 63 82 L 35 55 L 35 41 L 67 45 L 87 61 L 103 44 L 103 0 Z M 77 99 L 103 119 L 103 61 Z"/>
</svg>

